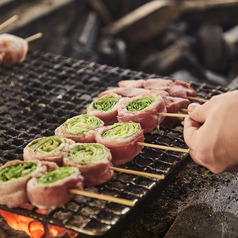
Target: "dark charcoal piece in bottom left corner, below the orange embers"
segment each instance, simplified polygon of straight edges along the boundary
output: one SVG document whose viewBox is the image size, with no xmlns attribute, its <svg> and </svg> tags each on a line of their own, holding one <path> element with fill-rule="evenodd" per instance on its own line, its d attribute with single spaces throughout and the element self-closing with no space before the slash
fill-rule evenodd
<svg viewBox="0 0 238 238">
<path fill-rule="evenodd" d="M 0 237 L 1 238 L 30 238 L 25 231 L 18 231 L 11 228 L 6 220 L 0 215 Z"/>
</svg>

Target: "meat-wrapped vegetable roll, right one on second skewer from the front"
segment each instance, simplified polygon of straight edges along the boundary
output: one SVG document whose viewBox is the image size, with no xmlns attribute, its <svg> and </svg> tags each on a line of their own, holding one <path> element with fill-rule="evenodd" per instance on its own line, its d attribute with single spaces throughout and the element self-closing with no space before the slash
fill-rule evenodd
<svg viewBox="0 0 238 238">
<path fill-rule="evenodd" d="M 85 186 L 105 183 L 113 176 L 111 152 L 98 143 L 75 143 L 65 155 L 63 165 L 77 167 Z"/>
</svg>

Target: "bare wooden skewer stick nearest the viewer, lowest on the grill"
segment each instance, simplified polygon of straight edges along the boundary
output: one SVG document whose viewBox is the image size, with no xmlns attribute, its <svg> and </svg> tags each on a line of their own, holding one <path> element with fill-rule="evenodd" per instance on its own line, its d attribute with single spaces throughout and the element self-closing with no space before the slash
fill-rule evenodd
<svg viewBox="0 0 238 238">
<path fill-rule="evenodd" d="M 133 207 L 135 202 L 137 201 L 137 200 L 134 200 L 134 201 L 127 200 L 124 198 L 116 198 L 116 197 L 109 196 L 109 195 L 92 193 L 92 192 L 79 190 L 79 189 L 70 189 L 69 192 L 73 193 L 73 194 L 83 195 L 86 197 L 97 198 L 97 199 L 101 199 L 101 200 L 105 200 L 105 201 L 115 202 L 115 203 L 123 204 L 126 206 L 130 206 L 130 207 Z"/>
</svg>

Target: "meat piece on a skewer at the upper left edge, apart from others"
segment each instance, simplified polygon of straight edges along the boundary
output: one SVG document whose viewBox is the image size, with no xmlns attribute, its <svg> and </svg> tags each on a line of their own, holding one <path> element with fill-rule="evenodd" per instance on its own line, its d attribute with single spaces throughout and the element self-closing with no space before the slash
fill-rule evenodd
<svg viewBox="0 0 238 238">
<path fill-rule="evenodd" d="M 26 40 L 11 35 L 0 35 L 0 64 L 13 65 L 25 60 L 28 52 Z"/>
</svg>

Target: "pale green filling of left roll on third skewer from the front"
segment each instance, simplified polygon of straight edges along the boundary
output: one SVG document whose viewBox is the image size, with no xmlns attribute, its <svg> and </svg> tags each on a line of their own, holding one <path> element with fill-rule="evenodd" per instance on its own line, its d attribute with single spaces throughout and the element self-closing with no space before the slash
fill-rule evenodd
<svg viewBox="0 0 238 238">
<path fill-rule="evenodd" d="M 80 135 L 84 132 L 97 129 L 101 125 L 101 120 L 93 115 L 81 114 L 68 119 L 66 131 L 70 134 Z"/>
</svg>

